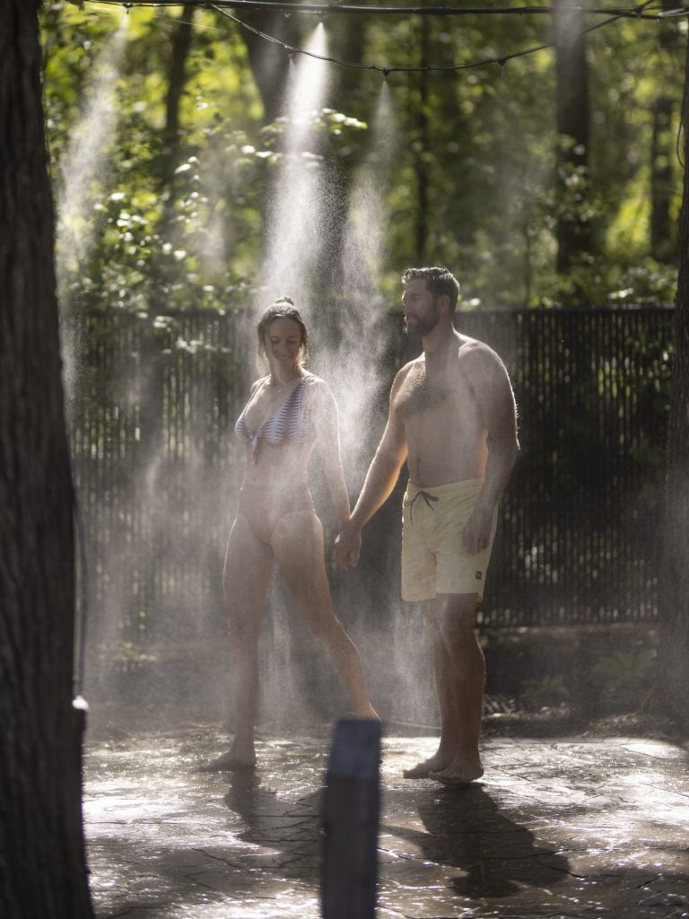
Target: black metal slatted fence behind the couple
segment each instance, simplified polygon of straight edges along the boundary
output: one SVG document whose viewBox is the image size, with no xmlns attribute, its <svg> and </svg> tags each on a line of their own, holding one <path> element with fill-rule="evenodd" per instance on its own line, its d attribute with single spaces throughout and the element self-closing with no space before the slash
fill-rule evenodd
<svg viewBox="0 0 689 919">
<path fill-rule="evenodd" d="M 672 310 L 485 310 L 457 324 L 501 354 L 520 415 L 482 625 L 654 618 Z M 221 556 L 243 468 L 232 425 L 255 375 L 252 330 L 239 312 L 104 312 L 66 338 L 89 629 L 123 656 L 153 632 L 224 629 Z M 390 374 L 408 348 L 392 317 Z M 396 577 L 399 518 L 393 508 L 373 530 L 392 547 L 378 582 Z"/>
</svg>

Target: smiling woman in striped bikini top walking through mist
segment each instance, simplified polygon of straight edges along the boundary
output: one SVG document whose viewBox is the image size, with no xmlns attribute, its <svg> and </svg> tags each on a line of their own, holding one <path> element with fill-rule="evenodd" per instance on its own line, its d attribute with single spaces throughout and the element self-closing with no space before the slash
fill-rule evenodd
<svg viewBox="0 0 689 919">
<path fill-rule="evenodd" d="M 259 354 L 270 373 L 254 383 L 235 426 L 246 443 L 246 470 L 225 557 L 224 590 L 235 650 L 236 718 L 230 751 L 208 771 L 253 768 L 258 698 L 258 635 L 274 562 L 309 624 L 333 657 L 356 714 L 377 718 L 356 646 L 333 612 L 325 573 L 321 521 L 307 467 L 317 448 L 342 529 L 349 497 L 340 461 L 337 406 L 327 384 L 303 367 L 307 329 L 283 297 L 257 326 Z"/>
</svg>

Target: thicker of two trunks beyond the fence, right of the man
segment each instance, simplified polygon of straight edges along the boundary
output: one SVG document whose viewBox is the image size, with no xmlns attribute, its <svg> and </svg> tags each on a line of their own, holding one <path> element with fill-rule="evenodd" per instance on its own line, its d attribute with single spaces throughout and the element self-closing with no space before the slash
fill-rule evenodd
<svg viewBox="0 0 689 919">
<path fill-rule="evenodd" d="M 589 168 L 588 71 L 582 11 L 569 6 L 567 0 L 553 0 L 553 6 L 559 139 L 557 268 L 565 273 L 592 250 L 591 221 L 582 219 Z"/>
</svg>

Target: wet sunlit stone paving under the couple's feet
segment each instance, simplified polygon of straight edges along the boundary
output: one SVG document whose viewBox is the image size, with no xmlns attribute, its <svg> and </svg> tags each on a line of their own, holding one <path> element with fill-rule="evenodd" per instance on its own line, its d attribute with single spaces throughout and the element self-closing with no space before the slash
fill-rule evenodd
<svg viewBox="0 0 689 919">
<path fill-rule="evenodd" d="M 199 772 L 226 740 L 190 727 L 87 743 L 98 919 L 320 915 L 327 737 L 264 740 L 255 772 Z M 384 740 L 379 917 L 689 917 L 687 749 L 489 738 L 478 783 L 402 778 L 436 743 Z"/>
</svg>

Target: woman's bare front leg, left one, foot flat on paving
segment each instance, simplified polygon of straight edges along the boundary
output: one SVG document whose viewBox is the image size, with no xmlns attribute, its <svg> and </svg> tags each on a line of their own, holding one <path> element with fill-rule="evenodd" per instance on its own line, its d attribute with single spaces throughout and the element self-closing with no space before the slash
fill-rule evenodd
<svg viewBox="0 0 689 919">
<path fill-rule="evenodd" d="M 253 768 L 254 726 L 258 703 L 258 636 L 273 553 L 237 516 L 225 555 L 224 593 L 232 641 L 234 738 L 226 754 L 203 766 L 207 772 Z"/>
</svg>

